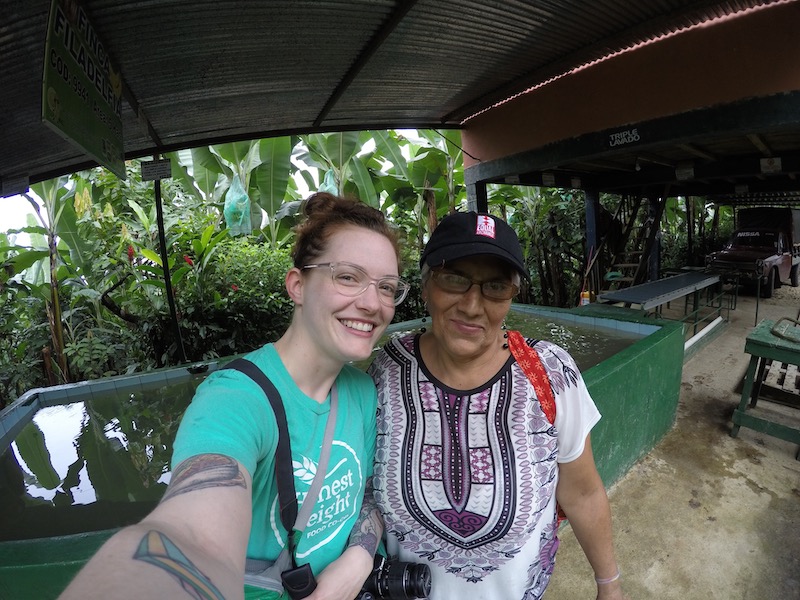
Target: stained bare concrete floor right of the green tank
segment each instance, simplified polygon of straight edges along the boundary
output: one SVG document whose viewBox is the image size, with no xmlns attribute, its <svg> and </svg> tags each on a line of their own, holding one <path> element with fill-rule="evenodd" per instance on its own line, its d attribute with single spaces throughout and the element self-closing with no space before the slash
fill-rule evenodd
<svg viewBox="0 0 800 600">
<path fill-rule="evenodd" d="M 610 491 L 631 600 L 800 599 L 797 445 L 748 429 L 729 435 L 755 308 L 741 295 L 730 322 L 684 365 L 675 427 Z M 758 308 L 759 320 L 795 318 L 800 288 L 783 286 Z M 546 599 L 593 599 L 580 546 L 569 528 L 561 538 Z"/>
</svg>

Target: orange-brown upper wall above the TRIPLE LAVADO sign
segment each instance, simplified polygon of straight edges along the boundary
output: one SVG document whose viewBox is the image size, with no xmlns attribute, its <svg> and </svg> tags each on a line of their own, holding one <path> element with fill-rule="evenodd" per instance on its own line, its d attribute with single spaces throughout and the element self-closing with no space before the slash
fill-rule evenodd
<svg viewBox="0 0 800 600">
<path fill-rule="evenodd" d="M 465 167 L 620 125 L 800 90 L 800 3 L 622 53 L 468 120 Z"/>
</svg>

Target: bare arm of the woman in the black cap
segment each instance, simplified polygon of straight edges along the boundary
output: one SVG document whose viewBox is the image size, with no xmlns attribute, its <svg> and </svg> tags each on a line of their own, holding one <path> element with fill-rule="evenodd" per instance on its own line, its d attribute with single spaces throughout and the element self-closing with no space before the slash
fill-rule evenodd
<svg viewBox="0 0 800 600">
<path fill-rule="evenodd" d="M 556 498 L 594 569 L 598 582 L 597 597 L 603 600 L 623 599 L 612 543 L 611 508 L 594 464 L 589 436 L 586 437 L 580 457 L 559 464 Z"/>
</svg>

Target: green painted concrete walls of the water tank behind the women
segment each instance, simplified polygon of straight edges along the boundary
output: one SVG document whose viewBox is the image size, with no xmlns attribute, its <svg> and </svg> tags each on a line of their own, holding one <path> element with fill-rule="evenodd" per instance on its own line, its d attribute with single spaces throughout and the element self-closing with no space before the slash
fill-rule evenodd
<svg viewBox="0 0 800 600">
<path fill-rule="evenodd" d="M 589 392 L 603 415 L 592 431 L 595 460 L 604 483 L 611 485 L 675 423 L 683 366 L 683 326 L 644 319 L 628 309 L 599 305 L 570 310 L 515 305 L 514 309 L 598 330 L 621 331 L 637 338 L 583 371 Z M 398 324 L 393 329 L 402 331 L 418 325 Z M 527 335 L 524 329 L 522 332 Z M 202 365 L 200 369 L 212 371 L 225 360 Z M 15 435 L 43 407 L 66 405 L 92 398 L 109 388 L 127 389 L 125 386 L 135 387 L 146 382 L 163 380 L 167 385 L 172 382 L 184 385 L 197 377 L 197 367 L 32 390 L 0 412 L 0 451 L 10 449 Z M 153 498 L 142 497 L 141 500 L 138 506 L 130 509 L 131 519 L 146 514 L 152 506 Z M 63 514 L 72 513 L 65 511 Z M 103 527 L 100 531 L 67 529 L 68 535 L 0 542 L 0 599 L 56 598 L 89 557 L 116 531 L 107 525 Z"/>
</svg>

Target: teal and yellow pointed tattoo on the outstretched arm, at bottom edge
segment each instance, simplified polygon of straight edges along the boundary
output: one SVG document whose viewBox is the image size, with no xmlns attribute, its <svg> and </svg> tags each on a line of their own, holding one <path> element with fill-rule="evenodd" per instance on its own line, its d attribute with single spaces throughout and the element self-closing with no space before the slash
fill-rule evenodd
<svg viewBox="0 0 800 600">
<path fill-rule="evenodd" d="M 159 531 L 147 532 L 133 558 L 163 569 L 196 600 L 225 600 L 211 580 L 194 566 L 172 540 Z"/>
</svg>

